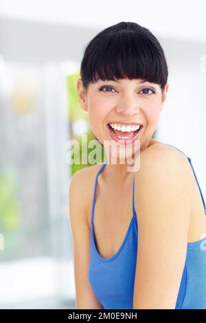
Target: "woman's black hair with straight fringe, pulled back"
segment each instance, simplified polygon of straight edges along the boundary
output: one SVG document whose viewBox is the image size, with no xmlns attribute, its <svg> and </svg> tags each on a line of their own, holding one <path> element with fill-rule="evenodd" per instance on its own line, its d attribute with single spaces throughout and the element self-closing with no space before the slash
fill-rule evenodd
<svg viewBox="0 0 206 323">
<path fill-rule="evenodd" d="M 168 65 L 157 38 L 146 27 L 120 22 L 99 32 L 84 49 L 80 66 L 84 88 L 98 78 L 141 78 L 165 89 Z"/>
</svg>

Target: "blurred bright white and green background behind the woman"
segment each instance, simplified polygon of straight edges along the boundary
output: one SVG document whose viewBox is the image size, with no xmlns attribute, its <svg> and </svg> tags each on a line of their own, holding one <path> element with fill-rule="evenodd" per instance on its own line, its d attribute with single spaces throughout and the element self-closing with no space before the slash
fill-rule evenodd
<svg viewBox="0 0 206 323">
<path fill-rule="evenodd" d="M 67 186 L 85 165 L 66 162 L 66 144 L 94 138 L 76 81 L 84 47 L 105 27 L 134 21 L 159 39 L 170 88 L 155 137 L 192 158 L 206 197 L 205 9 L 200 0 L 0 0 L 1 309 L 76 308 Z"/>
</svg>

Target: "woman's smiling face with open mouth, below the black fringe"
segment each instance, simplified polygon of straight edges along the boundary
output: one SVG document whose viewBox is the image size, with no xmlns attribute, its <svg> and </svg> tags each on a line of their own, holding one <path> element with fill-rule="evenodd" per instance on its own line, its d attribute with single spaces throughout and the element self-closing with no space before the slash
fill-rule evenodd
<svg viewBox="0 0 206 323">
<path fill-rule="evenodd" d="M 102 144 L 104 140 L 118 140 L 123 136 L 121 142 L 138 139 L 141 147 L 148 146 L 158 124 L 168 84 L 162 92 L 159 85 L 141 79 L 99 79 L 90 83 L 86 91 L 82 80 L 78 79 L 77 88 L 80 105 L 88 111 L 91 130 Z M 141 125 L 139 134 L 138 125 Z"/>
</svg>

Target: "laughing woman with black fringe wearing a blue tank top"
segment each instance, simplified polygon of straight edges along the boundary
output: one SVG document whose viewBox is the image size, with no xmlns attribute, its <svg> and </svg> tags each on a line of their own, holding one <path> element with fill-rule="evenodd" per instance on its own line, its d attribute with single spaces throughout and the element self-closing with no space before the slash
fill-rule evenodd
<svg viewBox="0 0 206 323">
<path fill-rule="evenodd" d="M 77 88 L 99 142 L 130 142 L 141 157 L 128 171 L 113 149 L 71 178 L 77 309 L 206 309 L 203 195 L 191 159 L 152 137 L 168 92 L 159 41 L 137 23 L 106 28 L 85 49 Z"/>
</svg>

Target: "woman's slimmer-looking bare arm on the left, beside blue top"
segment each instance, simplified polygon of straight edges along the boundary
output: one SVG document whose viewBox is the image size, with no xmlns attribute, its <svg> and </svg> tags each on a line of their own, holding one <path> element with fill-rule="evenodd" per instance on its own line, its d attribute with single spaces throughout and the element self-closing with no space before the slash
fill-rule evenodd
<svg viewBox="0 0 206 323">
<path fill-rule="evenodd" d="M 85 170 L 76 172 L 69 181 L 69 220 L 73 238 L 74 276 L 77 309 L 102 309 L 89 284 L 90 230 L 86 216 L 88 181 Z"/>
</svg>

